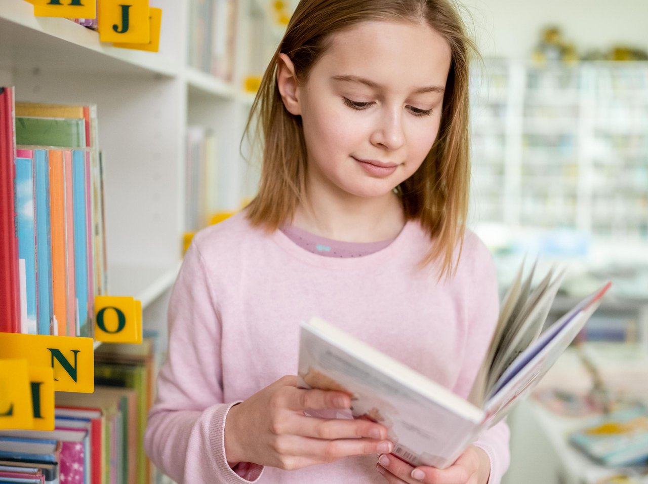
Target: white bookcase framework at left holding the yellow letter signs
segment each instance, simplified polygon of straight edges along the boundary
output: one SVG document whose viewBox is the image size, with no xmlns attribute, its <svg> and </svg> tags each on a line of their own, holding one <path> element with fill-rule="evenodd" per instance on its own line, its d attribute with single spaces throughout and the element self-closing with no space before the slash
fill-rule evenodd
<svg viewBox="0 0 648 484">
<path fill-rule="evenodd" d="M 239 150 L 253 99 L 242 91 L 253 74 L 250 39 L 279 37 L 270 16 L 260 16 L 264 29 L 255 18 L 264 2 L 237 0 L 233 82 L 223 82 L 187 67 L 189 1 L 151 5 L 163 10 L 157 53 L 105 45 L 67 19 L 34 17 L 24 0 L 0 0 L 0 85 L 16 86 L 17 100 L 97 104 L 110 294 L 140 299 L 145 326 L 165 333 L 181 260 L 187 126 L 218 135 L 219 208 L 238 209 L 255 190 Z"/>
</svg>

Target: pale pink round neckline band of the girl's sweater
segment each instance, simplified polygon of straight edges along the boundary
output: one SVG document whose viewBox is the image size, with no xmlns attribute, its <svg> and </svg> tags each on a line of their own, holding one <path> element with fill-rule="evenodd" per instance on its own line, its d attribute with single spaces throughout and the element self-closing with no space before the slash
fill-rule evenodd
<svg viewBox="0 0 648 484">
<path fill-rule="evenodd" d="M 407 245 L 407 240 L 411 237 L 410 234 L 415 228 L 415 224 L 417 224 L 417 220 L 407 220 L 399 234 L 386 248 L 360 257 L 322 257 L 295 244 L 290 237 L 278 229 L 273 231 L 270 238 L 295 259 L 311 266 L 331 270 L 360 270 L 375 267 L 376 264 L 389 260 L 395 253 L 399 253 Z"/>
</svg>

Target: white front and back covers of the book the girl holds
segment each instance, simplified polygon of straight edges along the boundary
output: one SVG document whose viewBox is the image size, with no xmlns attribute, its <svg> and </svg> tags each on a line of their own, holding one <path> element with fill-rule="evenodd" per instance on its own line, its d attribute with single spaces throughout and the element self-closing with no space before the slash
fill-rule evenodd
<svg viewBox="0 0 648 484">
<path fill-rule="evenodd" d="M 515 358 L 483 408 L 313 317 L 301 324 L 299 386 L 348 393 L 351 410 L 309 413 L 379 422 L 395 443 L 392 454 L 413 466 L 446 468 L 535 387 L 583 328 L 609 286 L 583 299 Z"/>
</svg>

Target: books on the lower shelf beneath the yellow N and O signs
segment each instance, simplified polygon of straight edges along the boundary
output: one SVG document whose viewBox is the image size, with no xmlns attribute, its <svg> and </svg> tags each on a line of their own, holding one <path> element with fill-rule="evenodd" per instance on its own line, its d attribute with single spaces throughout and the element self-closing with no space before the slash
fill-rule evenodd
<svg viewBox="0 0 648 484">
<path fill-rule="evenodd" d="M 142 345 L 102 345 L 94 393 L 56 392 L 55 430 L 0 430 L 0 482 L 150 483 L 143 435 L 157 347 L 154 332 Z"/>
</svg>

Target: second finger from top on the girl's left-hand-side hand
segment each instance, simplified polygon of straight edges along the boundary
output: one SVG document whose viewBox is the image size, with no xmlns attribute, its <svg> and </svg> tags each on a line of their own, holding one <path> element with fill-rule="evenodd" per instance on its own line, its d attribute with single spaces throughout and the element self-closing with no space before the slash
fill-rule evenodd
<svg viewBox="0 0 648 484">
<path fill-rule="evenodd" d="M 285 431 L 294 435 L 325 440 L 359 437 L 378 441 L 387 439 L 387 429 L 384 426 L 363 419 L 318 419 L 296 415 L 286 420 Z"/>
</svg>

